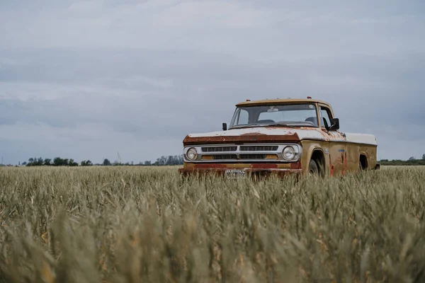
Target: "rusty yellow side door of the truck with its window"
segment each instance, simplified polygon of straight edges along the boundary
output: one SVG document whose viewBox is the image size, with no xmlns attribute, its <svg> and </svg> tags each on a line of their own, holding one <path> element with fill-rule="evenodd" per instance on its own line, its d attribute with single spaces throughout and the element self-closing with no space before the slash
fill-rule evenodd
<svg viewBox="0 0 425 283">
<path fill-rule="evenodd" d="M 327 127 L 331 126 L 332 113 L 325 105 L 319 105 L 320 127 L 322 131 L 329 137 L 329 154 L 325 158 L 329 158 L 330 175 L 344 175 L 347 168 L 347 144 L 344 134 L 338 130 L 327 131 Z"/>
</svg>

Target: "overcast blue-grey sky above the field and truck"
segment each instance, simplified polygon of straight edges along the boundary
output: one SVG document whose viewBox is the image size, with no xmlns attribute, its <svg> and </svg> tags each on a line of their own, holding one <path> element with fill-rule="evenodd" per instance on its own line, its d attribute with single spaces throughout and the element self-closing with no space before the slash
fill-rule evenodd
<svg viewBox="0 0 425 283">
<path fill-rule="evenodd" d="M 0 156 L 181 154 L 242 100 L 327 100 L 378 158 L 425 153 L 425 3 L 0 1 Z"/>
</svg>

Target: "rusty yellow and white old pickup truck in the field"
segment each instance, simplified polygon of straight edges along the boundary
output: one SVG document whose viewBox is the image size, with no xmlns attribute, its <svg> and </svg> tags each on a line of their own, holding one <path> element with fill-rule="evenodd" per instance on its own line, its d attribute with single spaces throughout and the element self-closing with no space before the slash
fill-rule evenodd
<svg viewBox="0 0 425 283">
<path fill-rule="evenodd" d="M 373 134 L 339 131 L 339 119 L 322 100 L 246 100 L 222 131 L 183 139 L 183 175 L 334 176 L 378 169 Z"/>
</svg>

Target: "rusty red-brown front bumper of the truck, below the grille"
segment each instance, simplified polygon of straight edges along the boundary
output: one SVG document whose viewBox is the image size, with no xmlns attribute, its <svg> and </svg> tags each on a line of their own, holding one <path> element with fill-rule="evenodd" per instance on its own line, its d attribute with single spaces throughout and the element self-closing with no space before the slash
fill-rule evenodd
<svg viewBox="0 0 425 283">
<path fill-rule="evenodd" d="M 246 175 L 266 177 L 276 175 L 283 177 L 285 175 L 301 175 L 302 168 L 300 163 L 287 164 L 193 164 L 185 163 L 183 168 L 179 168 L 179 173 L 184 176 L 189 175 L 217 175 L 224 176 L 227 170 L 244 171 Z"/>
</svg>

